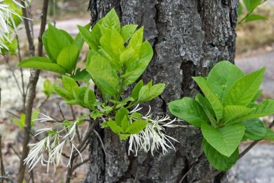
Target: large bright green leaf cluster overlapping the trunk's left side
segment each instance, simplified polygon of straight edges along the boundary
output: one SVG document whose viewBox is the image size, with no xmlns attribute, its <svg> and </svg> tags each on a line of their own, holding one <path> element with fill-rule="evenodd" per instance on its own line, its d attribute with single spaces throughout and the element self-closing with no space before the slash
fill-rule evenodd
<svg viewBox="0 0 274 183">
<path fill-rule="evenodd" d="M 62 74 L 62 86 L 51 86 L 45 82 L 45 94 L 60 95 L 67 104 L 79 105 L 90 110 L 90 117 L 108 119 L 101 127 L 110 127 L 121 140 L 130 134 L 137 134 L 147 125 L 141 117 L 132 117 L 129 108 L 138 103 L 158 97 L 164 84 L 144 84 L 140 80 L 127 97 L 125 90 L 147 68 L 153 57 L 153 49 L 147 40 L 143 41 L 144 28 L 137 25 L 121 27 L 119 16 L 112 9 L 92 27 L 79 26 L 79 34 L 72 38 L 62 29 L 49 24 L 42 35 L 47 57 L 32 57 L 23 60 L 19 66 L 53 71 Z M 90 47 L 84 69 L 77 68 L 82 46 Z M 89 86 L 90 79 L 99 90 Z M 86 86 L 82 86 L 82 82 Z M 115 119 L 113 120 L 113 118 Z"/>
</svg>

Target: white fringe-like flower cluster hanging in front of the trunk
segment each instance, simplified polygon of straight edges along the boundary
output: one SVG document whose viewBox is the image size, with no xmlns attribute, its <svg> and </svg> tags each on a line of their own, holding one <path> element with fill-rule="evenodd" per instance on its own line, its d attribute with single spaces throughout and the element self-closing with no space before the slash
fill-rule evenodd
<svg viewBox="0 0 274 183">
<path fill-rule="evenodd" d="M 137 112 L 141 109 L 142 108 L 138 108 L 138 106 L 136 106 L 136 108 L 134 108 L 131 113 Z M 171 140 L 176 142 L 178 141 L 175 138 L 166 135 L 164 127 L 179 126 L 173 125 L 173 122 L 175 122 L 176 119 L 171 120 L 169 116 L 156 117 L 155 119 L 151 119 L 151 115 L 149 114 L 150 112 L 151 108 L 149 106 L 149 112 L 147 112 L 145 116 L 141 117 L 142 119 L 148 121 L 145 129 L 138 134 L 130 135 L 128 154 L 130 154 L 130 151 L 135 151 L 137 156 L 138 151 L 143 150 L 145 152 L 151 151 L 153 156 L 153 151 L 158 151 L 160 148 L 162 148 L 163 154 L 168 151 L 168 148 L 175 150 Z"/>
</svg>

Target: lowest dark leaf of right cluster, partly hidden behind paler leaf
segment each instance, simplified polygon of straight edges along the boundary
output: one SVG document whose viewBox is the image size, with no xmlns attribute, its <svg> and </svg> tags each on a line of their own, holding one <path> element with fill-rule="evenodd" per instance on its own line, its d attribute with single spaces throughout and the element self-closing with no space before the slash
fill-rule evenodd
<svg viewBox="0 0 274 183">
<path fill-rule="evenodd" d="M 203 152 L 212 167 L 219 171 L 229 170 L 237 162 L 239 156 L 238 148 L 236 148 L 231 156 L 223 156 L 223 154 L 216 151 L 216 149 L 214 149 L 214 147 L 212 147 L 205 138 L 203 138 Z"/>
</svg>

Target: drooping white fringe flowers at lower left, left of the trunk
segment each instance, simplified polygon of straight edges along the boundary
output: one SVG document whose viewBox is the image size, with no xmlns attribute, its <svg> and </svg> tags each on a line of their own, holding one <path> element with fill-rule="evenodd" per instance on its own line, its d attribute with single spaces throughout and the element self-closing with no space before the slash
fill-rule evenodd
<svg viewBox="0 0 274 183">
<path fill-rule="evenodd" d="M 36 120 L 42 122 L 54 121 L 54 119 L 51 118 L 49 114 L 42 114 L 42 118 Z M 36 164 L 40 162 L 42 165 L 47 166 L 47 172 L 49 172 L 49 167 L 53 165 L 55 172 L 56 167 L 58 167 L 58 165 L 62 163 L 62 151 L 66 143 L 71 144 L 71 155 L 67 167 L 71 167 L 70 162 L 73 156 L 73 151 L 76 151 L 83 161 L 80 151 L 72 143 L 76 133 L 75 129 L 77 122 L 78 121 L 75 121 L 69 125 L 66 125 L 66 127 L 60 131 L 53 131 L 52 127 L 37 130 L 36 136 L 38 134 L 42 134 L 43 132 L 47 132 L 48 135 L 38 143 L 29 144 L 29 147 L 32 147 L 32 149 L 29 151 L 27 158 L 25 158 L 24 164 L 29 164 L 29 169 L 32 170 L 36 166 Z M 60 134 L 64 130 L 67 130 L 67 133 L 65 136 L 61 136 Z"/>
</svg>

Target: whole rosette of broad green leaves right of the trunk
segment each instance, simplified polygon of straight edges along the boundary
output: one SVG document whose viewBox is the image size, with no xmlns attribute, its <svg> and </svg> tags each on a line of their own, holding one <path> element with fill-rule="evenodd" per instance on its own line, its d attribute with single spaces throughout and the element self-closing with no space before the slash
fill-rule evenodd
<svg viewBox="0 0 274 183">
<path fill-rule="evenodd" d="M 203 95 L 169 103 L 173 115 L 201 128 L 203 151 L 210 164 L 226 171 L 238 160 L 240 141 L 272 140 L 274 132 L 258 117 L 274 114 L 274 100 L 256 103 L 265 68 L 245 75 L 237 66 L 222 61 L 208 77 L 192 77 Z"/>
</svg>

